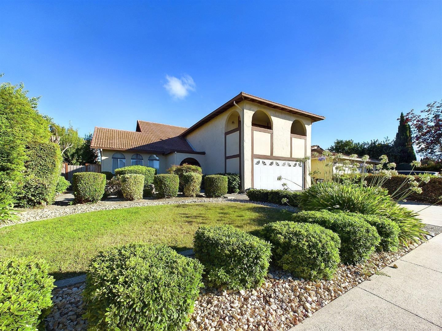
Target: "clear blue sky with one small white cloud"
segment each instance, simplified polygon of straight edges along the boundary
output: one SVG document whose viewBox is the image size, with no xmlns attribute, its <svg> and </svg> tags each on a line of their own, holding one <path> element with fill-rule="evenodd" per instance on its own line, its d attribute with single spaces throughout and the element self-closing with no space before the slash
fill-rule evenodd
<svg viewBox="0 0 442 331">
<path fill-rule="evenodd" d="M 442 98 L 442 1 L 2 1 L 1 81 L 80 134 L 190 126 L 240 91 L 326 120 L 312 144 L 394 138 Z"/>
</svg>

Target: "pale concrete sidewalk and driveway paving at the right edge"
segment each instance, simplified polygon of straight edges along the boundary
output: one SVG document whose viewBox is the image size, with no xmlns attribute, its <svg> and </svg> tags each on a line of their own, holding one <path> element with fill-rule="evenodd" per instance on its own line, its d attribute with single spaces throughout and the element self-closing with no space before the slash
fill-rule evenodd
<svg viewBox="0 0 442 331">
<path fill-rule="evenodd" d="M 441 206 L 425 211 L 425 223 L 442 226 Z M 371 276 L 290 331 L 442 331 L 442 233 L 394 263 L 382 269 L 390 277 Z"/>
</svg>

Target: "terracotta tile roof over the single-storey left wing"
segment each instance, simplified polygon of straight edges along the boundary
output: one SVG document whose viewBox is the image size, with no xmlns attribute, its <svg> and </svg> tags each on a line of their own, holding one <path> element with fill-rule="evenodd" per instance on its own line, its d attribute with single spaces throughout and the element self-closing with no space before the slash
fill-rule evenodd
<svg viewBox="0 0 442 331">
<path fill-rule="evenodd" d="M 137 121 L 137 131 L 95 127 L 91 147 L 114 150 L 139 150 L 163 154 L 174 151 L 195 153 L 186 139 L 180 136 L 186 129 L 141 120 Z"/>
</svg>

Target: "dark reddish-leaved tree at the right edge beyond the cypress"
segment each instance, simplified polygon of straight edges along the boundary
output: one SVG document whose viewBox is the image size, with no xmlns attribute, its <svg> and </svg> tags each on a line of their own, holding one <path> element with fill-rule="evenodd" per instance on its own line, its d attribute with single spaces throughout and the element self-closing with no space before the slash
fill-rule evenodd
<svg viewBox="0 0 442 331">
<path fill-rule="evenodd" d="M 425 158 L 442 162 L 442 100 L 429 103 L 420 113 L 412 109 L 405 116 L 412 128 L 417 152 Z"/>
</svg>

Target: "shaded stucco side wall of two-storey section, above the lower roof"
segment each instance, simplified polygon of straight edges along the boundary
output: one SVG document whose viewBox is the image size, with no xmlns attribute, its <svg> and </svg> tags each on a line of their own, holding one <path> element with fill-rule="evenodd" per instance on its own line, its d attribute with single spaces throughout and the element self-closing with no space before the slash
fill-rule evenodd
<svg viewBox="0 0 442 331">
<path fill-rule="evenodd" d="M 224 172 L 226 120 L 232 115 L 232 112 L 236 111 L 237 108 L 235 108 L 232 107 L 186 136 L 194 150 L 206 152 L 205 165 L 202 167 L 203 173 Z M 242 114 L 240 114 L 240 117 L 242 122 Z"/>
</svg>

